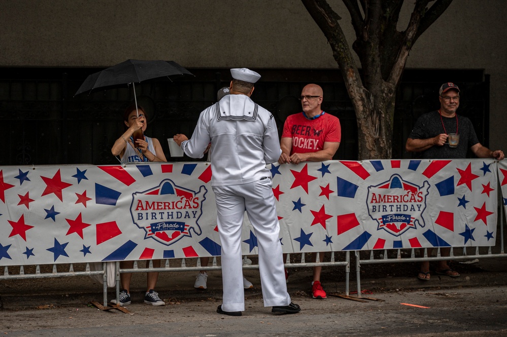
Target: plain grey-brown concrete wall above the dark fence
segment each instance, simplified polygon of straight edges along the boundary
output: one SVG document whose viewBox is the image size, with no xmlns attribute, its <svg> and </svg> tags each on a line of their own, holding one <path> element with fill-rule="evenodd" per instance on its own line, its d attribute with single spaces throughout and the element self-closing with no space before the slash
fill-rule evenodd
<svg viewBox="0 0 507 337">
<path fill-rule="evenodd" d="M 330 3 L 352 43 L 344 6 Z M 403 7 L 400 29 L 412 3 Z M 106 67 L 137 58 L 205 68 L 337 67 L 295 0 L 0 0 L 0 7 L 0 66 Z M 491 74 L 490 147 L 507 151 L 505 17 L 504 0 L 456 0 L 417 41 L 407 67 Z"/>
</svg>

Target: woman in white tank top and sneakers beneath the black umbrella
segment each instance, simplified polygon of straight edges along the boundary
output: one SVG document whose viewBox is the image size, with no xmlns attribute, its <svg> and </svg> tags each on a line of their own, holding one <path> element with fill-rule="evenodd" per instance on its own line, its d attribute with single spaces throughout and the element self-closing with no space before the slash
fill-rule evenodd
<svg viewBox="0 0 507 337">
<path fill-rule="evenodd" d="M 125 123 L 125 132 L 115 141 L 111 152 L 114 156 L 120 156 L 121 162 L 166 162 L 162 146 L 156 138 L 144 136 L 143 139 L 134 141 L 133 134 L 139 130 L 146 131 L 147 122 L 145 119 L 146 112 L 141 106 L 132 104 L 128 106 L 123 114 L 123 123 Z M 146 267 L 150 261 L 146 261 Z M 131 269 L 134 261 L 121 261 L 121 269 Z M 160 260 L 153 260 L 153 267 L 160 267 Z M 158 272 L 146 273 L 146 293 L 144 303 L 153 306 L 164 306 L 165 302 L 158 297 L 158 293 L 154 290 L 158 279 Z M 121 286 L 123 290 L 120 292 L 119 305 L 124 306 L 130 304 L 130 279 L 131 273 L 120 274 Z M 116 299 L 111 303 L 116 304 Z"/>
</svg>

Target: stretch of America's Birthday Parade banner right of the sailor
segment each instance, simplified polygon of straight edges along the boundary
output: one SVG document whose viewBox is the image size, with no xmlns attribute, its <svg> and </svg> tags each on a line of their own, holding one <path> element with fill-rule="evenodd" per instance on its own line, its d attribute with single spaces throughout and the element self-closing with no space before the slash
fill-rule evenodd
<svg viewBox="0 0 507 337">
<path fill-rule="evenodd" d="M 284 252 L 495 244 L 494 160 L 329 161 L 271 171 Z"/>
</svg>

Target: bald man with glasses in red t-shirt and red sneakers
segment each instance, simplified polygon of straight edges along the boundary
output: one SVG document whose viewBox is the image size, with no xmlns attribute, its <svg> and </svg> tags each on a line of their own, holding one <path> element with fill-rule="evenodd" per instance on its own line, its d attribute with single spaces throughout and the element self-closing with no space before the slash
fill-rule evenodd
<svg viewBox="0 0 507 337">
<path fill-rule="evenodd" d="M 320 108 L 322 94 L 322 88 L 316 84 L 309 84 L 301 91 L 299 99 L 303 111 L 290 115 L 285 120 L 280 141 L 282 148 L 282 155 L 278 160 L 280 164 L 299 164 L 304 161 L 322 162 L 331 160 L 336 153 L 342 137 L 340 120 L 322 111 Z M 312 255 L 315 262 L 317 253 Z M 319 260 L 324 260 L 323 252 L 319 253 Z M 320 266 L 313 268 L 313 298 L 327 297 L 320 283 L 321 270 Z"/>
</svg>

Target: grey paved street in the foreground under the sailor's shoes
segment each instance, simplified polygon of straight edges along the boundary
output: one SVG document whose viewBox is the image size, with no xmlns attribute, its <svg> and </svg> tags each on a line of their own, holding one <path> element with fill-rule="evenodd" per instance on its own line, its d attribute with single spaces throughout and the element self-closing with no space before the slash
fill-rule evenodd
<svg viewBox="0 0 507 337">
<path fill-rule="evenodd" d="M 139 295 L 126 306 L 131 314 L 89 306 L 89 294 L 54 296 L 52 302 L 40 295 L 29 302 L 18 301 L 19 306 L 12 303 L 14 297 L 4 297 L 7 308 L 0 311 L 0 331 L 7 336 L 122 337 L 507 335 L 505 285 L 391 289 L 363 295 L 384 301 L 366 303 L 335 296 L 320 301 L 305 291 L 289 291 L 302 308 L 299 314 L 271 314 L 270 308 L 262 306 L 257 286 L 246 292 L 247 310 L 242 317 L 217 314 L 220 291 L 210 288 L 164 298 L 165 307 L 145 305 Z M 100 292 L 95 299 L 100 301 Z"/>
</svg>

